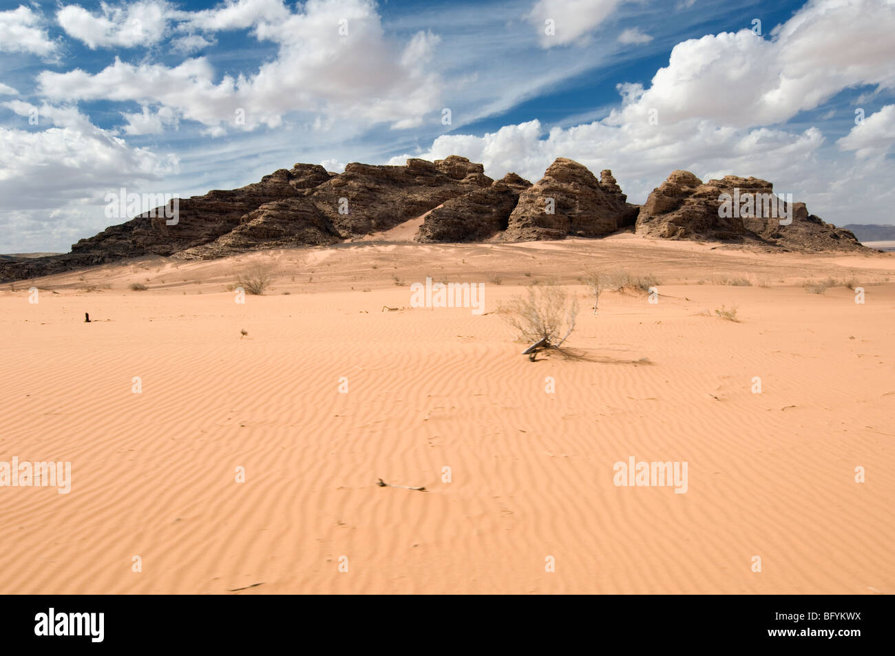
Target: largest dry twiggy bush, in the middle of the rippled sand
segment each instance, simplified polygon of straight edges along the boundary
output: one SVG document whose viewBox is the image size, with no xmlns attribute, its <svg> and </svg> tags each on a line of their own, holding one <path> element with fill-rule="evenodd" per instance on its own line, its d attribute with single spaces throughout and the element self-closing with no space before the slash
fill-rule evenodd
<svg viewBox="0 0 895 656">
<path fill-rule="evenodd" d="M 540 348 L 559 348 L 575 329 L 577 299 L 574 295 L 569 299 L 566 288 L 553 283 L 530 286 L 527 292 L 501 306 L 501 315 L 524 341 Z"/>
</svg>

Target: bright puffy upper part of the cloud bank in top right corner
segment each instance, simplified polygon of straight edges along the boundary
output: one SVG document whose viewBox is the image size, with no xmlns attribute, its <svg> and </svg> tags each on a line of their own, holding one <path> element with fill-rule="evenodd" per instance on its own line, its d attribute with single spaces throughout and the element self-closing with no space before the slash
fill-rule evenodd
<svg viewBox="0 0 895 656">
<path fill-rule="evenodd" d="M 722 32 L 678 43 L 669 65 L 613 120 L 662 124 L 692 117 L 737 127 L 771 125 L 818 106 L 842 89 L 895 88 L 895 3 L 818 0 L 773 32 Z"/>
</svg>

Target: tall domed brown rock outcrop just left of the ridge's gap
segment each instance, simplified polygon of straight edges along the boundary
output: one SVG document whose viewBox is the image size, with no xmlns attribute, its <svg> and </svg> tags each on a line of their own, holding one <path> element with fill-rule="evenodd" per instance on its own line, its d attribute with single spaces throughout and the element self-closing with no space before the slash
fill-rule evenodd
<svg viewBox="0 0 895 656">
<path fill-rule="evenodd" d="M 601 178 L 571 159 L 557 158 L 541 180 L 519 194 L 503 239 L 600 237 L 633 225 L 637 206 L 627 202 L 609 170 Z"/>
</svg>

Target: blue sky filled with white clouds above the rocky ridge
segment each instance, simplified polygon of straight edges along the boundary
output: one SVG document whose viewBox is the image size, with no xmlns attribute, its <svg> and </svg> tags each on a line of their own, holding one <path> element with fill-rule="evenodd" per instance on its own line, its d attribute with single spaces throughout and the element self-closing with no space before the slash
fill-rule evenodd
<svg viewBox="0 0 895 656">
<path fill-rule="evenodd" d="M 893 29 L 888 0 L 4 0 L 0 252 L 67 251 L 121 187 L 449 154 L 533 181 L 574 158 L 633 202 L 755 175 L 892 224 Z"/>
</svg>

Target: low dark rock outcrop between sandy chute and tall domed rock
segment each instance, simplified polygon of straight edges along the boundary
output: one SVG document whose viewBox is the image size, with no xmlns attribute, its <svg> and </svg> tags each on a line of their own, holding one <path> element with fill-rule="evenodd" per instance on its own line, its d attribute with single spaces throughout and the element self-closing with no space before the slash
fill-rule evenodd
<svg viewBox="0 0 895 656">
<path fill-rule="evenodd" d="M 507 229 L 519 192 L 532 183 L 507 174 L 484 189 L 473 189 L 445 201 L 423 219 L 417 242 L 481 242 Z"/>
</svg>

